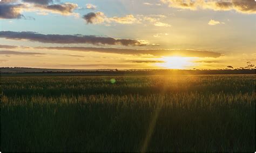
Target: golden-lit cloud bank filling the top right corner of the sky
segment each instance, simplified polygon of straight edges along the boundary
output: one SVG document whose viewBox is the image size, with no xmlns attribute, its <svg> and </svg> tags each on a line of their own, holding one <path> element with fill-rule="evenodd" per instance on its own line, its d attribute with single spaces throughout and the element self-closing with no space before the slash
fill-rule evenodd
<svg viewBox="0 0 256 153">
<path fill-rule="evenodd" d="M 161 0 L 162 3 L 168 4 L 172 8 L 180 9 L 211 9 L 215 11 L 235 10 L 241 13 L 256 13 L 255 0 L 230 0 L 230 1 L 205 1 L 205 0 Z"/>
</svg>

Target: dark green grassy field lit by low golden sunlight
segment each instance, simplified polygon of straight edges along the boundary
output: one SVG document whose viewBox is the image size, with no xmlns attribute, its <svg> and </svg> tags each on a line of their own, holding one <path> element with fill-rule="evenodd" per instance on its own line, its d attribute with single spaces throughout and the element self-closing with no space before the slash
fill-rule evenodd
<svg viewBox="0 0 256 153">
<path fill-rule="evenodd" d="M 1 150 L 255 151 L 255 81 L 1 77 Z"/>
</svg>

